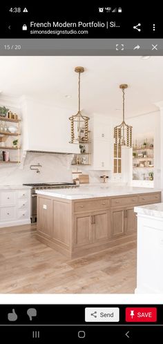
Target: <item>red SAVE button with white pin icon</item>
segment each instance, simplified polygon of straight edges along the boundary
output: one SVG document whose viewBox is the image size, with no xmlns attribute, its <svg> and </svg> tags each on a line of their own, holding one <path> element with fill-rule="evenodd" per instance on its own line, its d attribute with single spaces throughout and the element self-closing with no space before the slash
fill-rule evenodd
<svg viewBox="0 0 163 344">
<path fill-rule="evenodd" d="M 157 321 L 157 308 L 127 307 L 126 321 L 129 323 L 153 323 Z"/>
</svg>

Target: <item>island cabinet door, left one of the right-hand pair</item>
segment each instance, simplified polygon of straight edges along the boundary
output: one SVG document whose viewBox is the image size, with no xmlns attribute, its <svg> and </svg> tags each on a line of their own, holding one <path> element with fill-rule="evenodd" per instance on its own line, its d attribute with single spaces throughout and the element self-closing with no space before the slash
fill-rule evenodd
<svg viewBox="0 0 163 344">
<path fill-rule="evenodd" d="M 125 233 L 125 211 L 124 209 L 111 210 L 111 236 L 115 238 Z"/>
</svg>

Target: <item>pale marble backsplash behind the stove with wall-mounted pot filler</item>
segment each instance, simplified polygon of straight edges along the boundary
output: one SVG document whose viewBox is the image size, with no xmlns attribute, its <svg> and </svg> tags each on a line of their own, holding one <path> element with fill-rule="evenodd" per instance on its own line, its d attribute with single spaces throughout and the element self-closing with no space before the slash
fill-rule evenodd
<svg viewBox="0 0 163 344">
<path fill-rule="evenodd" d="M 26 158 L 20 165 L 1 164 L 0 184 L 24 184 L 41 182 L 73 182 L 71 166 L 73 155 L 48 154 L 48 153 L 27 153 Z M 40 164 L 40 173 L 30 170 L 30 165 Z M 111 181 L 111 171 L 93 171 L 85 167 L 79 169 L 84 174 L 89 175 L 90 182 L 102 182 L 100 175 L 108 175 L 106 182 Z"/>
</svg>

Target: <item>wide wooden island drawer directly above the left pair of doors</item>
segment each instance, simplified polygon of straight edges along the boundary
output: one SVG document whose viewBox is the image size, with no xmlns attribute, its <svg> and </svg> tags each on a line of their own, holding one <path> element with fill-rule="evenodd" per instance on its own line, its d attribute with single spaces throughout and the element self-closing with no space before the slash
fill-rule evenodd
<svg viewBox="0 0 163 344">
<path fill-rule="evenodd" d="M 86 200 L 81 202 L 75 202 L 74 211 L 88 211 L 95 209 L 106 209 L 109 207 L 109 200 Z"/>
</svg>

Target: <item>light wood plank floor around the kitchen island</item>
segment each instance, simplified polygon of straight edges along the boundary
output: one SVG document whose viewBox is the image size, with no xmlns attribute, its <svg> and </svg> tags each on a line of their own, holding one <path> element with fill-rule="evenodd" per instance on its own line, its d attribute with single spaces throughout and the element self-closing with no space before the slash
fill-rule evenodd
<svg viewBox="0 0 163 344">
<path fill-rule="evenodd" d="M 35 225 L 0 229 L 0 293 L 134 293 L 135 234 L 68 260 L 41 244 Z"/>
</svg>

